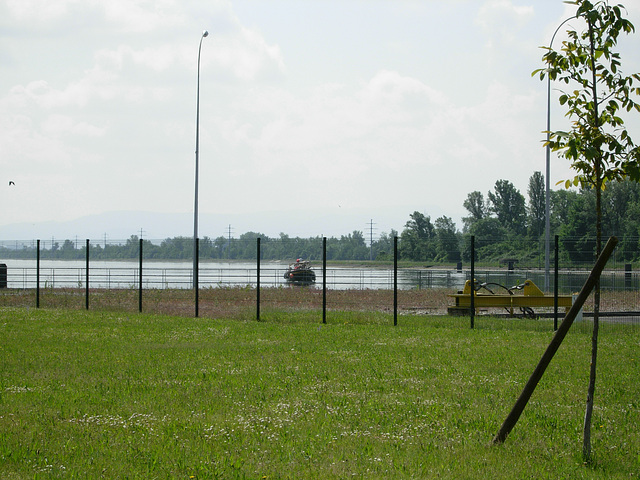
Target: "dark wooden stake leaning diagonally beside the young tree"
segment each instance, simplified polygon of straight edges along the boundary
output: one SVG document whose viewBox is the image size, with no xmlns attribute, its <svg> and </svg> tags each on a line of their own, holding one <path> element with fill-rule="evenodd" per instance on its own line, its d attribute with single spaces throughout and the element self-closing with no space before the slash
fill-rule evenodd
<svg viewBox="0 0 640 480">
<path fill-rule="evenodd" d="M 560 324 L 560 327 L 556 331 L 556 334 L 553 336 L 553 339 L 551 340 L 551 343 L 547 347 L 547 350 L 542 355 L 542 358 L 540 359 L 538 366 L 535 368 L 535 370 L 531 374 L 531 377 L 529 378 L 529 381 L 524 386 L 524 389 L 522 390 L 520 397 L 518 397 L 518 400 L 516 400 L 516 404 L 511 409 L 511 412 L 505 419 L 504 423 L 502 424 L 502 427 L 500 427 L 500 431 L 494 437 L 493 439 L 494 444 L 503 443 L 507 439 L 507 435 L 509 435 L 513 427 L 515 427 L 516 423 L 518 423 L 518 419 L 520 418 L 520 415 L 522 414 L 524 407 L 527 406 L 527 403 L 529 402 L 531 395 L 533 395 L 533 391 L 536 389 L 536 386 L 538 385 L 538 382 L 542 378 L 542 375 L 544 375 L 544 371 L 549 366 L 549 363 L 551 363 L 551 359 L 558 351 L 558 348 L 560 348 L 560 345 L 562 344 L 564 337 L 569 332 L 569 328 L 571 328 L 573 321 L 575 320 L 576 316 L 582 309 L 584 302 L 587 300 L 587 297 L 591 293 L 591 290 L 593 290 L 593 287 L 595 286 L 596 282 L 600 278 L 600 274 L 602 273 L 604 266 L 607 264 L 607 260 L 609 260 L 609 257 L 613 253 L 613 249 L 616 247 L 617 244 L 618 244 L 618 239 L 616 237 L 609 238 L 609 241 L 605 245 L 604 250 L 602 250 L 602 253 L 598 257 L 598 260 L 596 261 L 596 264 L 594 265 L 593 270 L 591 270 L 591 273 L 589 274 L 589 278 L 587 278 L 587 281 L 582 287 L 582 290 L 580 290 L 580 294 L 578 295 L 578 298 L 576 299 L 573 306 L 569 310 L 569 313 L 567 313 L 567 315 L 564 317 L 564 320 Z"/>
</svg>

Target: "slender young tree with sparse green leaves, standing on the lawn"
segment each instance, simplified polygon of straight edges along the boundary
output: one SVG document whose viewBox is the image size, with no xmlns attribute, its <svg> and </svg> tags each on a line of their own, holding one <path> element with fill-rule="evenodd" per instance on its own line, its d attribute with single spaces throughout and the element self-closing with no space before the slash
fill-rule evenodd
<svg viewBox="0 0 640 480">
<path fill-rule="evenodd" d="M 614 51 L 622 33 L 635 31 L 633 24 L 623 17 L 621 5 L 610 6 L 606 1 L 592 3 L 575 0 L 576 18 L 584 20 L 582 32 L 569 30 L 568 40 L 560 52 L 546 48 L 543 61 L 547 68 L 534 72 L 570 86 L 560 96 L 566 105 L 572 125 L 569 132 L 550 132 L 549 145 L 571 162 L 577 175 L 566 181 L 590 185 L 596 192 L 596 254 L 602 251 L 602 190 L 608 181 L 624 177 L 640 180 L 640 153 L 624 127 L 622 112 L 640 111 L 633 100 L 640 94 L 634 87 L 639 74 L 624 76 L 620 71 L 620 54 Z M 594 294 L 594 322 L 591 340 L 591 370 L 587 390 L 582 453 L 591 460 L 591 415 L 595 391 L 596 359 L 600 310 L 600 285 Z"/>
</svg>

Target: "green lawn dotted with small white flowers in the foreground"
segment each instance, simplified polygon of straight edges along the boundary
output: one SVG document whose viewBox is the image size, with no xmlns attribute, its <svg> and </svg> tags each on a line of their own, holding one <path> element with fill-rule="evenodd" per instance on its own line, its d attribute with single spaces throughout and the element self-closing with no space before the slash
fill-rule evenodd
<svg viewBox="0 0 640 480">
<path fill-rule="evenodd" d="M 586 332 L 570 332 L 493 446 L 548 323 L 262 318 L 0 309 L 0 478 L 640 475 L 637 329 L 601 336 L 587 466 Z"/>
</svg>

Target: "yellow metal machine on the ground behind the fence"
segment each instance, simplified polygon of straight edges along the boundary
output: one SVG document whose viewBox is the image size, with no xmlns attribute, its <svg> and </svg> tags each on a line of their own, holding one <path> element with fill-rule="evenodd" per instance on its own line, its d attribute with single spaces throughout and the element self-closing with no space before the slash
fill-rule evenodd
<svg viewBox="0 0 640 480">
<path fill-rule="evenodd" d="M 494 293 L 491 286 L 500 287 L 506 293 Z M 479 293 L 485 290 L 487 293 Z M 522 294 L 515 292 L 522 291 Z M 449 315 L 468 315 L 471 308 L 471 281 L 467 280 L 462 292 L 450 294 L 455 298 L 455 306 L 448 307 Z M 535 307 L 553 307 L 553 295 L 542 293 L 535 283 L 525 280 L 522 285 L 507 288 L 497 283 L 475 282 L 475 292 L 473 296 L 474 307 L 479 308 L 505 308 L 511 316 L 514 316 L 515 309 L 519 309 L 522 315 L 535 316 Z M 571 295 L 558 295 L 558 307 L 564 307 L 565 312 L 569 311 L 573 301 Z"/>
</svg>

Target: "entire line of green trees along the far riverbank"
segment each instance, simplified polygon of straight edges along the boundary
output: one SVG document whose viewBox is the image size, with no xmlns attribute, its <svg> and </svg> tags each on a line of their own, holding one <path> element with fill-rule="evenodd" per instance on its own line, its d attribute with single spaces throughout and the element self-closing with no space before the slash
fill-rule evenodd
<svg viewBox="0 0 640 480">
<path fill-rule="evenodd" d="M 603 233 L 620 239 L 617 258 L 640 261 L 640 185 L 632 181 L 607 184 L 602 192 Z M 595 258 L 595 193 L 588 188 L 552 190 L 550 196 L 551 235 L 559 235 L 561 260 L 566 264 L 592 262 Z M 455 264 L 470 260 L 470 237 L 475 237 L 477 259 L 498 263 L 512 259 L 520 265 L 537 265 L 544 251 L 545 182 L 540 172 L 529 179 L 527 197 L 508 180 L 497 180 L 493 190 L 483 194 L 473 191 L 463 202 L 467 216 L 459 229 L 453 220 L 441 216 L 434 221 L 425 213 L 409 215 L 401 233 L 383 232 L 376 239 L 362 231 L 327 238 L 328 260 L 393 259 L 394 238 L 398 236 L 400 260 L 429 264 Z M 204 237 L 200 239 L 202 260 L 254 260 L 256 239 L 261 239 L 264 260 L 322 258 L 322 237 L 290 237 L 280 233 L 268 237 L 247 232 L 239 238 Z M 124 244 L 90 244 L 89 255 L 95 260 L 126 260 L 139 256 L 139 237 L 132 235 Z M 86 246 L 73 241 L 53 243 L 42 249 L 43 259 L 80 260 L 86 257 Z M 188 260 L 193 258 L 193 238 L 173 237 L 153 243 L 143 240 L 146 259 Z M 2 258 L 35 258 L 35 246 L 22 249 L 0 248 Z"/>
</svg>

